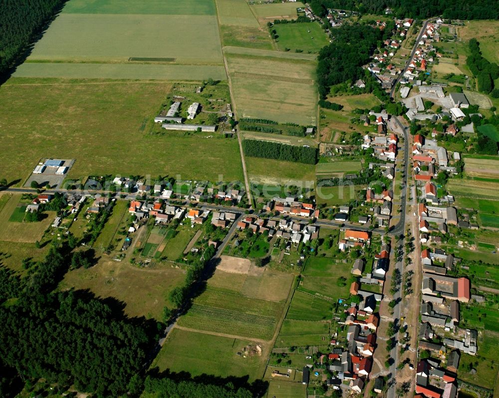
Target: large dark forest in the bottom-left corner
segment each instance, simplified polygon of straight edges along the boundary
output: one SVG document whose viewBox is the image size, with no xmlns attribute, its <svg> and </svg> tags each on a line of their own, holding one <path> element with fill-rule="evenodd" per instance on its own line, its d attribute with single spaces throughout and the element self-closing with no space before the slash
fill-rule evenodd
<svg viewBox="0 0 499 398">
<path fill-rule="evenodd" d="M 12 394 L 16 381 L 44 378 L 118 397 L 142 370 L 162 325 L 126 317 L 114 299 L 54 291 L 74 254 L 67 242 L 50 245 L 23 278 L 0 267 L 0 367 L 11 375 L 0 379 L 1 396 Z"/>
</svg>

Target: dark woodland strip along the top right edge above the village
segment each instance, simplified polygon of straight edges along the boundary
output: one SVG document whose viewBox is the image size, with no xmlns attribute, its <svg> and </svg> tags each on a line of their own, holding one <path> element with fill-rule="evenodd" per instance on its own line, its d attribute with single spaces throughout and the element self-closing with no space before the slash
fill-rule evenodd
<svg viewBox="0 0 499 398">
<path fill-rule="evenodd" d="M 323 17 L 326 8 L 356 10 L 361 13 L 384 14 L 391 8 L 399 18 L 498 19 L 497 0 L 310 0 L 313 11 Z"/>
</svg>

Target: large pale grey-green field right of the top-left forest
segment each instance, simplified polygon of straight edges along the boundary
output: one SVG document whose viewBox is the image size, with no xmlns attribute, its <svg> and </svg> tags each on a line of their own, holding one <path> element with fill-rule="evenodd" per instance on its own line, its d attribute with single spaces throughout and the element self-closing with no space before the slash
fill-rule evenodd
<svg viewBox="0 0 499 398">
<path fill-rule="evenodd" d="M 36 43 L 28 60 L 114 62 L 130 57 L 221 63 L 217 18 L 62 13 Z"/>
</svg>

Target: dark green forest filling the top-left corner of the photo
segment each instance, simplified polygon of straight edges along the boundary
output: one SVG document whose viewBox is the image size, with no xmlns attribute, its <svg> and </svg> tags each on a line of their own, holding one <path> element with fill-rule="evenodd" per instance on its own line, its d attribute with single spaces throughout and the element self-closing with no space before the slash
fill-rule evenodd
<svg viewBox="0 0 499 398">
<path fill-rule="evenodd" d="M 0 76 L 66 0 L 0 0 Z"/>
</svg>

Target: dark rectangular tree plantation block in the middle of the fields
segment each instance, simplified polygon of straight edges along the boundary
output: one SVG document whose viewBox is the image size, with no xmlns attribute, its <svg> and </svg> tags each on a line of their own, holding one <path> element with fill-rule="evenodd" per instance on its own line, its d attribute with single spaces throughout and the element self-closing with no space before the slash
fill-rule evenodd
<svg viewBox="0 0 499 398">
<path fill-rule="evenodd" d="M 243 140 L 243 150 L 245 155 L 252 157 L 287 160 L 305 164 L 317 163 L 318 150 L 310 146 L 296 146 L 257 139 L 245 139 Z"/>
</svg>

